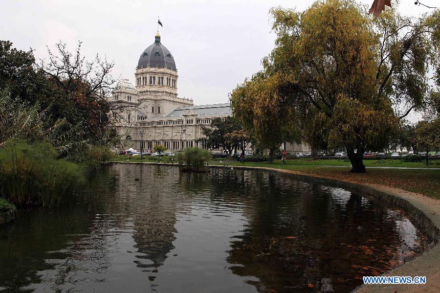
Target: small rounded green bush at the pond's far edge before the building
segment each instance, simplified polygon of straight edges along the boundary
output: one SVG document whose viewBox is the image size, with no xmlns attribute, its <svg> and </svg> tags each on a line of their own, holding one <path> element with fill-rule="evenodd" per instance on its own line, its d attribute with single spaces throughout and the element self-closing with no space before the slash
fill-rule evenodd
<svg viewBox="0 0 440 293">
<path fill-rule="evenodd" d="M 176 153 L 176 161 L 182 171 L 204 172 L 206 163 L 211 159 L 211 152 L 200 148 L 186 148 Z"/>
</svg>

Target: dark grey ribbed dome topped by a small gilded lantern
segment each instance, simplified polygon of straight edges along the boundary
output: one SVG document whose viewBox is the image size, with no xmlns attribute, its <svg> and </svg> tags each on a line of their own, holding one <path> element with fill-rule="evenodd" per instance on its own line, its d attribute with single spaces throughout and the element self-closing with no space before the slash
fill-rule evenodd
<svg viewBox="0 0 440 293">
<path fill-rule="evenodd" d="M 160 35 L 157 33 L 154 44 L 144 50 L 137 63 L 137 69 L 150 67 L 168 68 L 176 70 L 174 57 L 164 45 L 160 43 Z"/>
</svg>

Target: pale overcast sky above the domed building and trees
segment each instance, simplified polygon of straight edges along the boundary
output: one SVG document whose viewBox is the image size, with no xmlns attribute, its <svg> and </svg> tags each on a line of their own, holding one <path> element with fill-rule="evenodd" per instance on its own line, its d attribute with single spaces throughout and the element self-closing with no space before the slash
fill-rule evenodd
<svg viewBox="0 0 440 293">
<path fill-rule="evenodd" d="M 401 0 L 399 10 L 429 9 Z M 113 76 L 134 83 L 140 54 L 154 43 L 157 17 L 161 43 L 176 60 L 178 94 L 196 105 L 224 103 L 245 77 L 260 70 L 274 46 L 269 9 L 306 9 L 312 0 L 1 0 L 0 38 L 46 56 L 46 45 L 83 42 L 88 58 L 114 61 Z M 360 0 L 371 5 L 373 0 Z M 395 2 L 395 1 L 393 1 Z M 438 0 L 422 0 L 435 6 Z"/>
</svg>

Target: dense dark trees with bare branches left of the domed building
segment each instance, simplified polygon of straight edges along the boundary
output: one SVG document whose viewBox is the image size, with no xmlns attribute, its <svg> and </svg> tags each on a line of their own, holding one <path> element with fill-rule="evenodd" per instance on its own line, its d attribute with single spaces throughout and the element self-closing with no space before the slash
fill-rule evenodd
<svg viewBox="0 0 440 293">
<path fill-rule="evenodd" d="M 86 144 L 115 145 L 119 137 L 105 98 L 112 65 L 87 62 L 80 46 L 75 54 L 63 44 L 57 49 L 40 65 L 33 51 L 0 41 L 0 145 L 14 138 L 43 140 L 62 157 Z"/>
</svg>

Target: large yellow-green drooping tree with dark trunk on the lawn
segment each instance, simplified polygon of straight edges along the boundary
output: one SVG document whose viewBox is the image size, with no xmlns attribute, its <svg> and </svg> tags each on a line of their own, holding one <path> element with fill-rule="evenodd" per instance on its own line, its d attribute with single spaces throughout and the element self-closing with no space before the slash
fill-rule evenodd
<svg viewBox="0 0 440 293">
<path fill-rule="evenodd" d="M 278 37 L 261 73 L 278 88 L 266 99 L 327 117 L 330 146 L 345 146 L 356 173 L 366 172 L 364 151 L 387 147 L 400 119 L 423 108 L 431 52 L 424 19 L 364 8 L 327 0 L 304 12 L 272 9 Z"/>
</svg>

